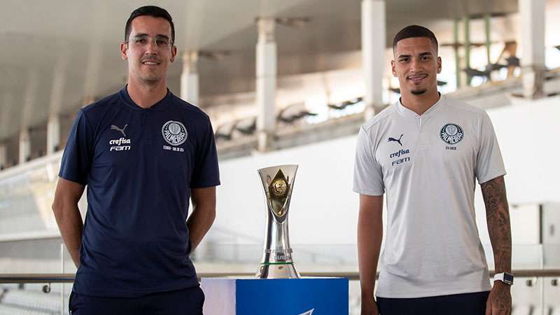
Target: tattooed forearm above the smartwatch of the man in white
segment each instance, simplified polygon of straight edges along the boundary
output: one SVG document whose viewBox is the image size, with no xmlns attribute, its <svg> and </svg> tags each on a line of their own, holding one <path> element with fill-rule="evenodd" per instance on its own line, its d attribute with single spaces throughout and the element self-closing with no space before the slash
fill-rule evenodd
<svg viewBox="0 0 560 315">
<path fill-rule="evenodd" d="M 510 211 L 503 176 L 480 185 L 486 205 L 486 222 L 494 254 L 496 273 L 511 272 L 512 235 Z"/>
</svg>

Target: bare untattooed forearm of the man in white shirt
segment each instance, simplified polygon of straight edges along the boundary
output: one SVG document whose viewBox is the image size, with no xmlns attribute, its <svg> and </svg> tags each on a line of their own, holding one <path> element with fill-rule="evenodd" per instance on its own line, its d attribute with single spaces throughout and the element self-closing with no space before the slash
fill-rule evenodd
<svg viewBox="0 0 560 315">
<path fill-rule="evenodd" d="M 383 224 L 377 214 L 360 211 L 358 216 L 358 267 L 360 288 L 365 296 L 372 296 L 377 274 L 377 261 L 383 238 Z"/>
</svg>

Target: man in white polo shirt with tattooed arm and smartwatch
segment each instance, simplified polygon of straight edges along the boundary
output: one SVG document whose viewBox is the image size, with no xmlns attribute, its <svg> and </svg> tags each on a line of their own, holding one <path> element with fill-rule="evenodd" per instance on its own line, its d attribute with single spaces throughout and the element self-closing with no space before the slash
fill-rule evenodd
<svg viewBox="0 0 560 315">
<path fill-rule="evenodd" d="M 510 219 L 492 123 L 481 109 L 437 92 L 442 62 L 432 31 L 405 27 L 393 55 L 401 98 L 362 125 L 356 148 L 362 315 L 510 314 Z M 475 221 L 476 180 L 500 280 L 493 288 Z"/>
</svg>

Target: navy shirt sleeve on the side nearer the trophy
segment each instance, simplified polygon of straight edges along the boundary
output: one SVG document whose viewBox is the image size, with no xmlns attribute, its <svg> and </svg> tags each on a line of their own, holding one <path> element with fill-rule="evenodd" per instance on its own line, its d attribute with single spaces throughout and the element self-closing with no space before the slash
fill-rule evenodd
<svg viewBox="0 0 560 315">
<path fill-rule="evenodd" d="M 220 185 L 220 171 L 218 169 L 218 153 L 214 130 L 210 120 L 207 121 L 197 143 L 195 154 L 195 169 L 190 178 L 190 188 L 204 188 Z"/>
</svg>

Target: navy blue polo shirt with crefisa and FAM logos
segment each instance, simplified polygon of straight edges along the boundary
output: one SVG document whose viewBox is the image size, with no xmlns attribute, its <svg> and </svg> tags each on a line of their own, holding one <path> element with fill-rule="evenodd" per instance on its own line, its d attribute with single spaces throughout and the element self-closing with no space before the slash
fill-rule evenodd
<svg viewBox="0 0 560 315">
<path fill-rule="evenodd" d="M 59 176 L 87 185 L 73 290 L 140 297 L 197 286 L 190 188 L 220 184 L 208 116 L 172 92 L 149 109 L 126 87 L 80 109 Z"/>
</svg>

